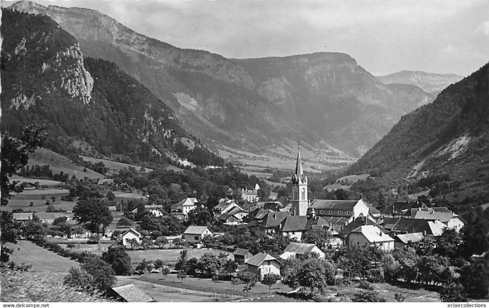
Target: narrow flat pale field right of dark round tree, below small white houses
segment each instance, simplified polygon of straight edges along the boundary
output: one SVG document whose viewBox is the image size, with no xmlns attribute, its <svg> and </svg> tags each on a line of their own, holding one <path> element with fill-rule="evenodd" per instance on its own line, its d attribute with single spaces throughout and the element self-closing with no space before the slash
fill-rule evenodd
<svg viewBox="0 0 489 308">
<path fill-rule="evenodd" d="M 133 263 L 139 263 L 143 259 L 146 260 L 156 260 L 161 259 L 164 262 L 168 263 L 176 263 L 178 261 L 178 257 L 180 257 L 180 251 L 182 249 L 152 249 L 152 250 L 128 250 L 128 254 L 131 257 L 131 261 Z M 188 259 L 196 257 L 200 258 L 205 253 L 212 253 L 214 255 L 219 255 L 221 252 L 225 252 L 229 256 L 231 256 L 230 252 L 211 249 L 211 248 L 202 248 L 202 249 L 187 249 L 188 251 Z"/>
</svg>

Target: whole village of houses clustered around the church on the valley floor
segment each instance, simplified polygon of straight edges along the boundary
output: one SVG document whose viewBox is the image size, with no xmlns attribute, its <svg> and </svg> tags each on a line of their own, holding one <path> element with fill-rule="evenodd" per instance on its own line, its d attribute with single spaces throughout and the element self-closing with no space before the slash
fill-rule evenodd
<svg viewBox="0 0 489 308">
<path fill-rule="evenodd" d="M 219 293 L 219 299 L 225 301 L 248 296 L 253 288 L 259 289 L 260 285 L 266 286 L 268 291 L 273 285 L 276 294 L 297 294 L 298 291 L 307 294 L 305 290 L 309 289 L 309 296 L 312 296 L 314 290 L 324 293 L 328 285 L 333 286 L 341 280 L 360 279 L 360 282 L 386 281 L 394 284 L 401 279 L 405 283 L 424 281 L 427 285 L 436 285 L 447 279 L 443 270 L 439 277 L 421 271 L 412 276 L 409 273 L 412 268 L 402 264 L 402 260 L 411 254 L 409 258 L 412 261 L 420 262 L 424 258 L 416 254 L 420 247 L 431 245 L 430 249 L 436 250 L 440 248 L 436 245 L 437 238 L 447 240 L 447 237 L 458 234 L 465 225 L 458 214 L 445 207 L 428 206 L 419 200 L 394 202 L 382 211 L 361 198 L 310 200 L 308 178 L 303 172 L 299 150 L 291 186 L 291 196 L 282 196 L 274 201 L 260 201 L 258 184 L 253 189 L 229 189 L 211 209 L 210 217 L 202 220 L 207 221 L 202 225 L 195 223 L 199 221 L 195 217 L 206 213 L 207 209 L 195 197 L 184 198 L 172 205 L 170 213 L 158 204 L 139 204 L 125 212 L 122 211 L 122 204 L 112 205 L 108 208 L 113 217 L 111 223 L 101 229 L 99 226 L 95 228 L 101 232 L 84 230 L 76 223 L 74 213 L 63 211 L 13 213 L 13 219 L 21 225 L 36 221 L 38 224 L 60 227 L 58 233 L 48 232 L 42 239 L 35 230 L 29 231 L 27 228 L 22 238 L 71 259 L 83 260 L 77 254 L 85 254 L 85 257 L 106 256 L 124 247 L 125 252 L 122 253 L 130 256 L 131 260 L 127 264 L 129 268 L 116 271 L 116 275 L 122 276 L 117 276 L 115 284 L 111 286 L 111 294 L 123 301 L 167 300 L 166 297 L 155 297 L 154 292 L 148 291 L 148 282 L 155 283 L 155 280 L 159 280 L 156 284 L 167 286 L 175 286 L 179 281 L 183 289 L 191 288 L 210 296 L 212 287 L 200 287 L 200 283 L 207 280 L 214 285 L 214 298 Z M 240 196 L 239 201 L 235 199 L 236 195 Z M 55 200 L 52 201 L 54 203 Z M 177 234 L 164 236 L 161 224 L 156 223 L 158 219 L 171 218 L 185 226 L 190 217 L 193 217 L 193 223 L 181 229 L 181 234 L 173 232 Z M 71 230 L 69 237 L 63 232 L 63 226 Z M 399 252 L 402 252 L 401 255 Z M 390 265 L 385 263 L 386 254 L 392 258 L 393 253 L 397 259 L 392 259 L 397 266 L 395 274 L 388 273 Z M 365 254 L 371 254 L 366 257 L 367 264 L 348 264 L 365 262 L 353 260 Z M 318 277 L 318 282 L 301 282 L 297 266 L 311 260 L 316 262 L 313 263 L 316 272 L 323 271 L 322 276 Z M 438 262 L 440 266 L 448 265 L 447 260 Z M 162 275 L 164 279 L 155 278 Z M 423 275 L 429 278 L 426 280 Z M 192 285 L 192 277 L 197 278 L 197 286 Z M 187 281 L 190 286 L 183 286 Z M 228 287 L 232 282 L 232 291 L 223 287 L 221 291 L 218 288 L 219 292 L 216 293 L 216 284 L 224 281 L 228 281 Z M 235 291 L 236 284 L 242 284 L 243 290 Z M 345 299 L 341 292 L 332 290 L 330 300 Z M 378 301 L 383 299 L 371 287 L 365 287 L 364 292 L 376 296 Z M 394 293 L 401 294 L 391 293 L 392 299 Z M 266 290 L 264 294 L 267 294 Z M 363 296 L 368 295 L 365 294 Z M 397 296 L 398 301 L 405 298 L 405 295 Z M 350 300 L 353 297 L 354 294 L 350 294 Z M 198 301 L 201 300 L 198 297 Z"/>
</svg>

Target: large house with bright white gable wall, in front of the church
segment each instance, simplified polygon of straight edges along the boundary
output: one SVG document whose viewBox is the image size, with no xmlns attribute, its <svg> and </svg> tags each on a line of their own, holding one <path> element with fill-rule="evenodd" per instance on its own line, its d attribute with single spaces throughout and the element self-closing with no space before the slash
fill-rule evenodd
<svg viewBox="0 0 489 308">
<path fill-rule="evenodd" d="M 346 237 L 347 245 L 375 246 L 383 251 L 394 249 L 394 238 L 383 233 L 374 225 L 360 226 Z"/>
</svg>

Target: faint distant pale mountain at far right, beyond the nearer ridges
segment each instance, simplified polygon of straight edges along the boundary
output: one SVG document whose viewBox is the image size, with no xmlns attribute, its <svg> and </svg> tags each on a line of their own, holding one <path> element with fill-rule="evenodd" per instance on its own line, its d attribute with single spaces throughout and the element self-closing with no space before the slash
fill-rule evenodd
<svg viewBox="0 0 489 308">
<path fill-rule="evenodd" d="M 438 95 L 452 83 L 462 80 L 463 76 L 456 74 L 435 74 L 424 71 L 399 71 L 393 74 L 378 76 L 383 83 L 404 83 L 415 85 L 433 95 Z"/>
</svg>

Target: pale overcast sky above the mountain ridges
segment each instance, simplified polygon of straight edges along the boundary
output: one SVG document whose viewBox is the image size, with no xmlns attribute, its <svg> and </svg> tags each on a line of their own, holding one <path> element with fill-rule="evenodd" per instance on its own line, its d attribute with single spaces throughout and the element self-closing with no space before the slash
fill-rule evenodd
<svg viewBox="0 0 489 308">
<path fill-rule="evenodd" d="M 489 0 L 36 2 L 96 9 L 177 47 L 230 58 L 338 51 L 374 75 L 467 75 L 489 61 Z"/>
</svg>

